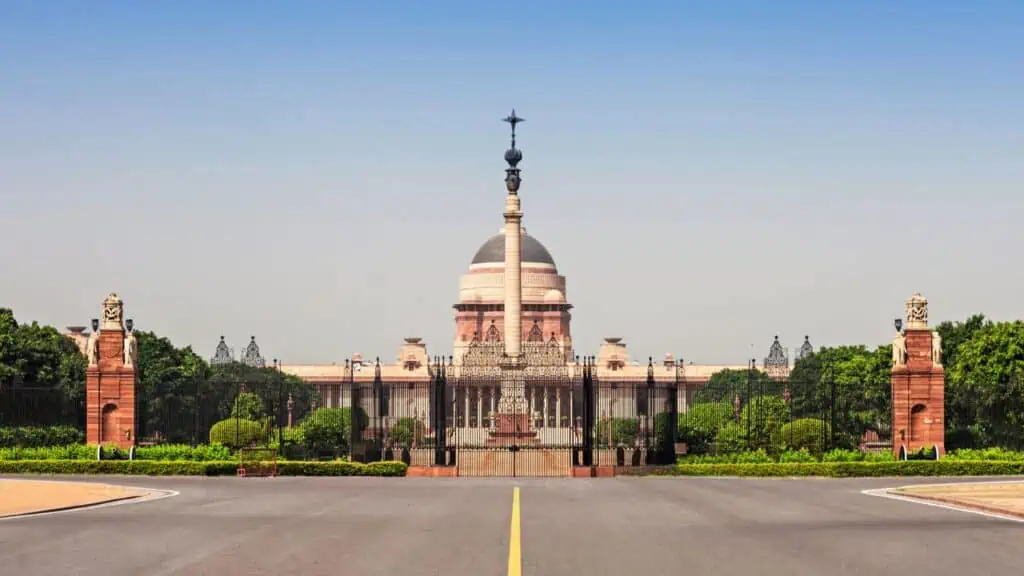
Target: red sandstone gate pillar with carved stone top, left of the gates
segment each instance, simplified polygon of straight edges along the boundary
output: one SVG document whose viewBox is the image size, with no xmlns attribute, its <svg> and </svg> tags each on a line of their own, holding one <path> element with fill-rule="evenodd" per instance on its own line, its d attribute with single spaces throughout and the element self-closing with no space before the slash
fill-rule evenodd
<svg viewBox="0 0 1024 576">
<path fill-rule="evenodd" d="M 125 330 L 124 304 L 117 294 L 103 300 L 101 324 L 93 321 L 86 356 L 86 442 L 125 449 L 134 446 L 138 347 L 135 335 Z"/>
</svg>

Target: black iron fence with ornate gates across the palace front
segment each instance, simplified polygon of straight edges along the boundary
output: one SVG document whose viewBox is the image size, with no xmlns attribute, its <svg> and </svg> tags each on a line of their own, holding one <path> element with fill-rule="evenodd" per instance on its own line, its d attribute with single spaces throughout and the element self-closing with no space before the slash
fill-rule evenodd
<svg viewBox="0 0 1024 576">
<path fill-rule="evenodd" d="M 140 384 L 135 438 L 141 445 L 273 448 L 295 459 L 460 467 L 476 451 L 494 454 L 479 456 L 495 462 L 487 465 L 528 464 L 543 476 L 573 465 L 669 463 L 683 454 L 891 450 L 894 437 L 888 381 L 841 380 L 827 371 L 807 381 L 755 370 L 725 383 L 650 375 L 617 381 L 598 378 L 594 360 L 584 359 L 563 373 L 526 378 L 525 409 L 510 421 L 499 410 L 507 385 L 501 377 L 440 359 L 431 377 L 406 382 L 385 382 L 370 368 L 360 379 L 321 383 L 268 375 Z M 1020 381 L 947 384 L 945 404 L 947 449 L 1024 449 Z M 58 425 L 84 431 L 80 392 L 0 381 L 0 428 Z M 502 434 L 509 425 L 519 434 Z M 529 460 L 540 449 L 557 461 Z"/>
</svg>

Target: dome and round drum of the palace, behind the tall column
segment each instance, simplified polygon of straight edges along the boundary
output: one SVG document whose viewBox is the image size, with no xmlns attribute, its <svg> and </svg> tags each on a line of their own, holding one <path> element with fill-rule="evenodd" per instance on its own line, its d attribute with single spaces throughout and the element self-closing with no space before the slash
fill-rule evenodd
<svg viewBox="0 0 1024 576">
<path fill-rule="evenodd" d="M 572 357 L 569 322 L 572 304 L 565 300 L 565 277 L 551 252 L 522 230 L 522 308 L 519 326 L 526 344 L 557 345 L 564 358 Z M 497 344 L 505 339 L 505 234 L 480 246 L 459 280 L 455 304 L 456 332 L 452 346 L 457 360 L 475 341 Z"/>
</svg>

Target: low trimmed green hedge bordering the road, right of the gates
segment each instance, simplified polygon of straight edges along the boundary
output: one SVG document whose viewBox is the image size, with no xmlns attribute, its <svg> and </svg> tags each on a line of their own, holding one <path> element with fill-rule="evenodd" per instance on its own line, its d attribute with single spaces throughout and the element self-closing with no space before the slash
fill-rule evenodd
<svg viewBox="0 0 1024 576">
<path fill-rule="evenodd" d="M 827 477 L 1019 476 L 1024 461 L 910 460 L 905 462 L 784 462 L 768 464 L 678 464 L 668 476 Z"/>
</svg>

